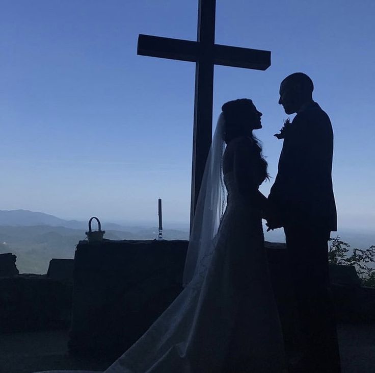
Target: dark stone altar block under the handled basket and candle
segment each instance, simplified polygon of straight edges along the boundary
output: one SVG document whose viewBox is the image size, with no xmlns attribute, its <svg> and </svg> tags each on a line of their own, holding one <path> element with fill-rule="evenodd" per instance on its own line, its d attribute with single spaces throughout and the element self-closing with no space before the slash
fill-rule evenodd
<svg viewBox="0 0 375 373">
<path fill-rule="evenodd" d="M 117 358 L 181 291 L 187 241 L 80 241 L 70 352 Z"/>
</svg>

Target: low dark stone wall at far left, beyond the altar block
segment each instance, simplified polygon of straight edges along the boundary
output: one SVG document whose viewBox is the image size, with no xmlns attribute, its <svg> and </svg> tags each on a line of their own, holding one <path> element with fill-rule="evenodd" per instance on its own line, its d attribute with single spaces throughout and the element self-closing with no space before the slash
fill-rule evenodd
<svg viewBox="0 0 375 373">
<path fill-rule="evenodd" d="M 69 328 L 72 264 L 52 259 L 46 275 L 19 275 L 16 256 L 0 255 L 0 333 Z"/>
</svg>

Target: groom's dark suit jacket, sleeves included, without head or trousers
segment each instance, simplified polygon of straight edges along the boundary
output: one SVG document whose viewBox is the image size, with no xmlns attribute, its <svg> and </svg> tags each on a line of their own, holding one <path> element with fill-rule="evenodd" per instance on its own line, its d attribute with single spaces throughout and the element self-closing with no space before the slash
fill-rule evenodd
<svg viewBox="0 0 375 373">
<path fill-rule="evenodd" d="M 336 231 L 332 156 L 330 118 L 312 102 L 294 117 L 285 131 L 279 169 L 269 195 L 280 225 Z"/>
</svg>

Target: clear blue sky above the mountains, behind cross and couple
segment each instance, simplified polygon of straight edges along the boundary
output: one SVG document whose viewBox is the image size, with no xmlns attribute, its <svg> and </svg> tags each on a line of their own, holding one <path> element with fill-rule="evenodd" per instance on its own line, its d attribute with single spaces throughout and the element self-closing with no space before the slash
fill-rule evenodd
<svg viewBox="0 0 375 373">
<path fill-rule="evenodd" d="M 195 64 L 137 56 L 137 38 L 195 40 L 197 3 L 2 1 L 0 209 L 156 221 L 161 197 L 166 221 L 189 221 Z M 375 226 L 374 16 L 369 0 L 217 1 L 216 42 L 270 50 L 272 65 L 216 67 L 214 120 L 252 98 L 275 177 L 279 83 L 309 74 L 335 133 L 339 227 Z"/>
</svg>

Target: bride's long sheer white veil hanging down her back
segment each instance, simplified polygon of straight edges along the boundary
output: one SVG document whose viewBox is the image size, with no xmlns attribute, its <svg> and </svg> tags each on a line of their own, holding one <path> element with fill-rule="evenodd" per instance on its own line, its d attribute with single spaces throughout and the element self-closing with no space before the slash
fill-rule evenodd
<svg viewBox="0 0 375 373">
<path fill-rule="evenodd" d="M 223 180 L 222 160 L 225 150 L 225 119 L 220 114 L 213 136 L 187 248 L 183 286 L 193 279 L 202 279 L 205 275 L 213 250 L 215 236 L 226 205 L 226 189 Z"/>
</svg>

